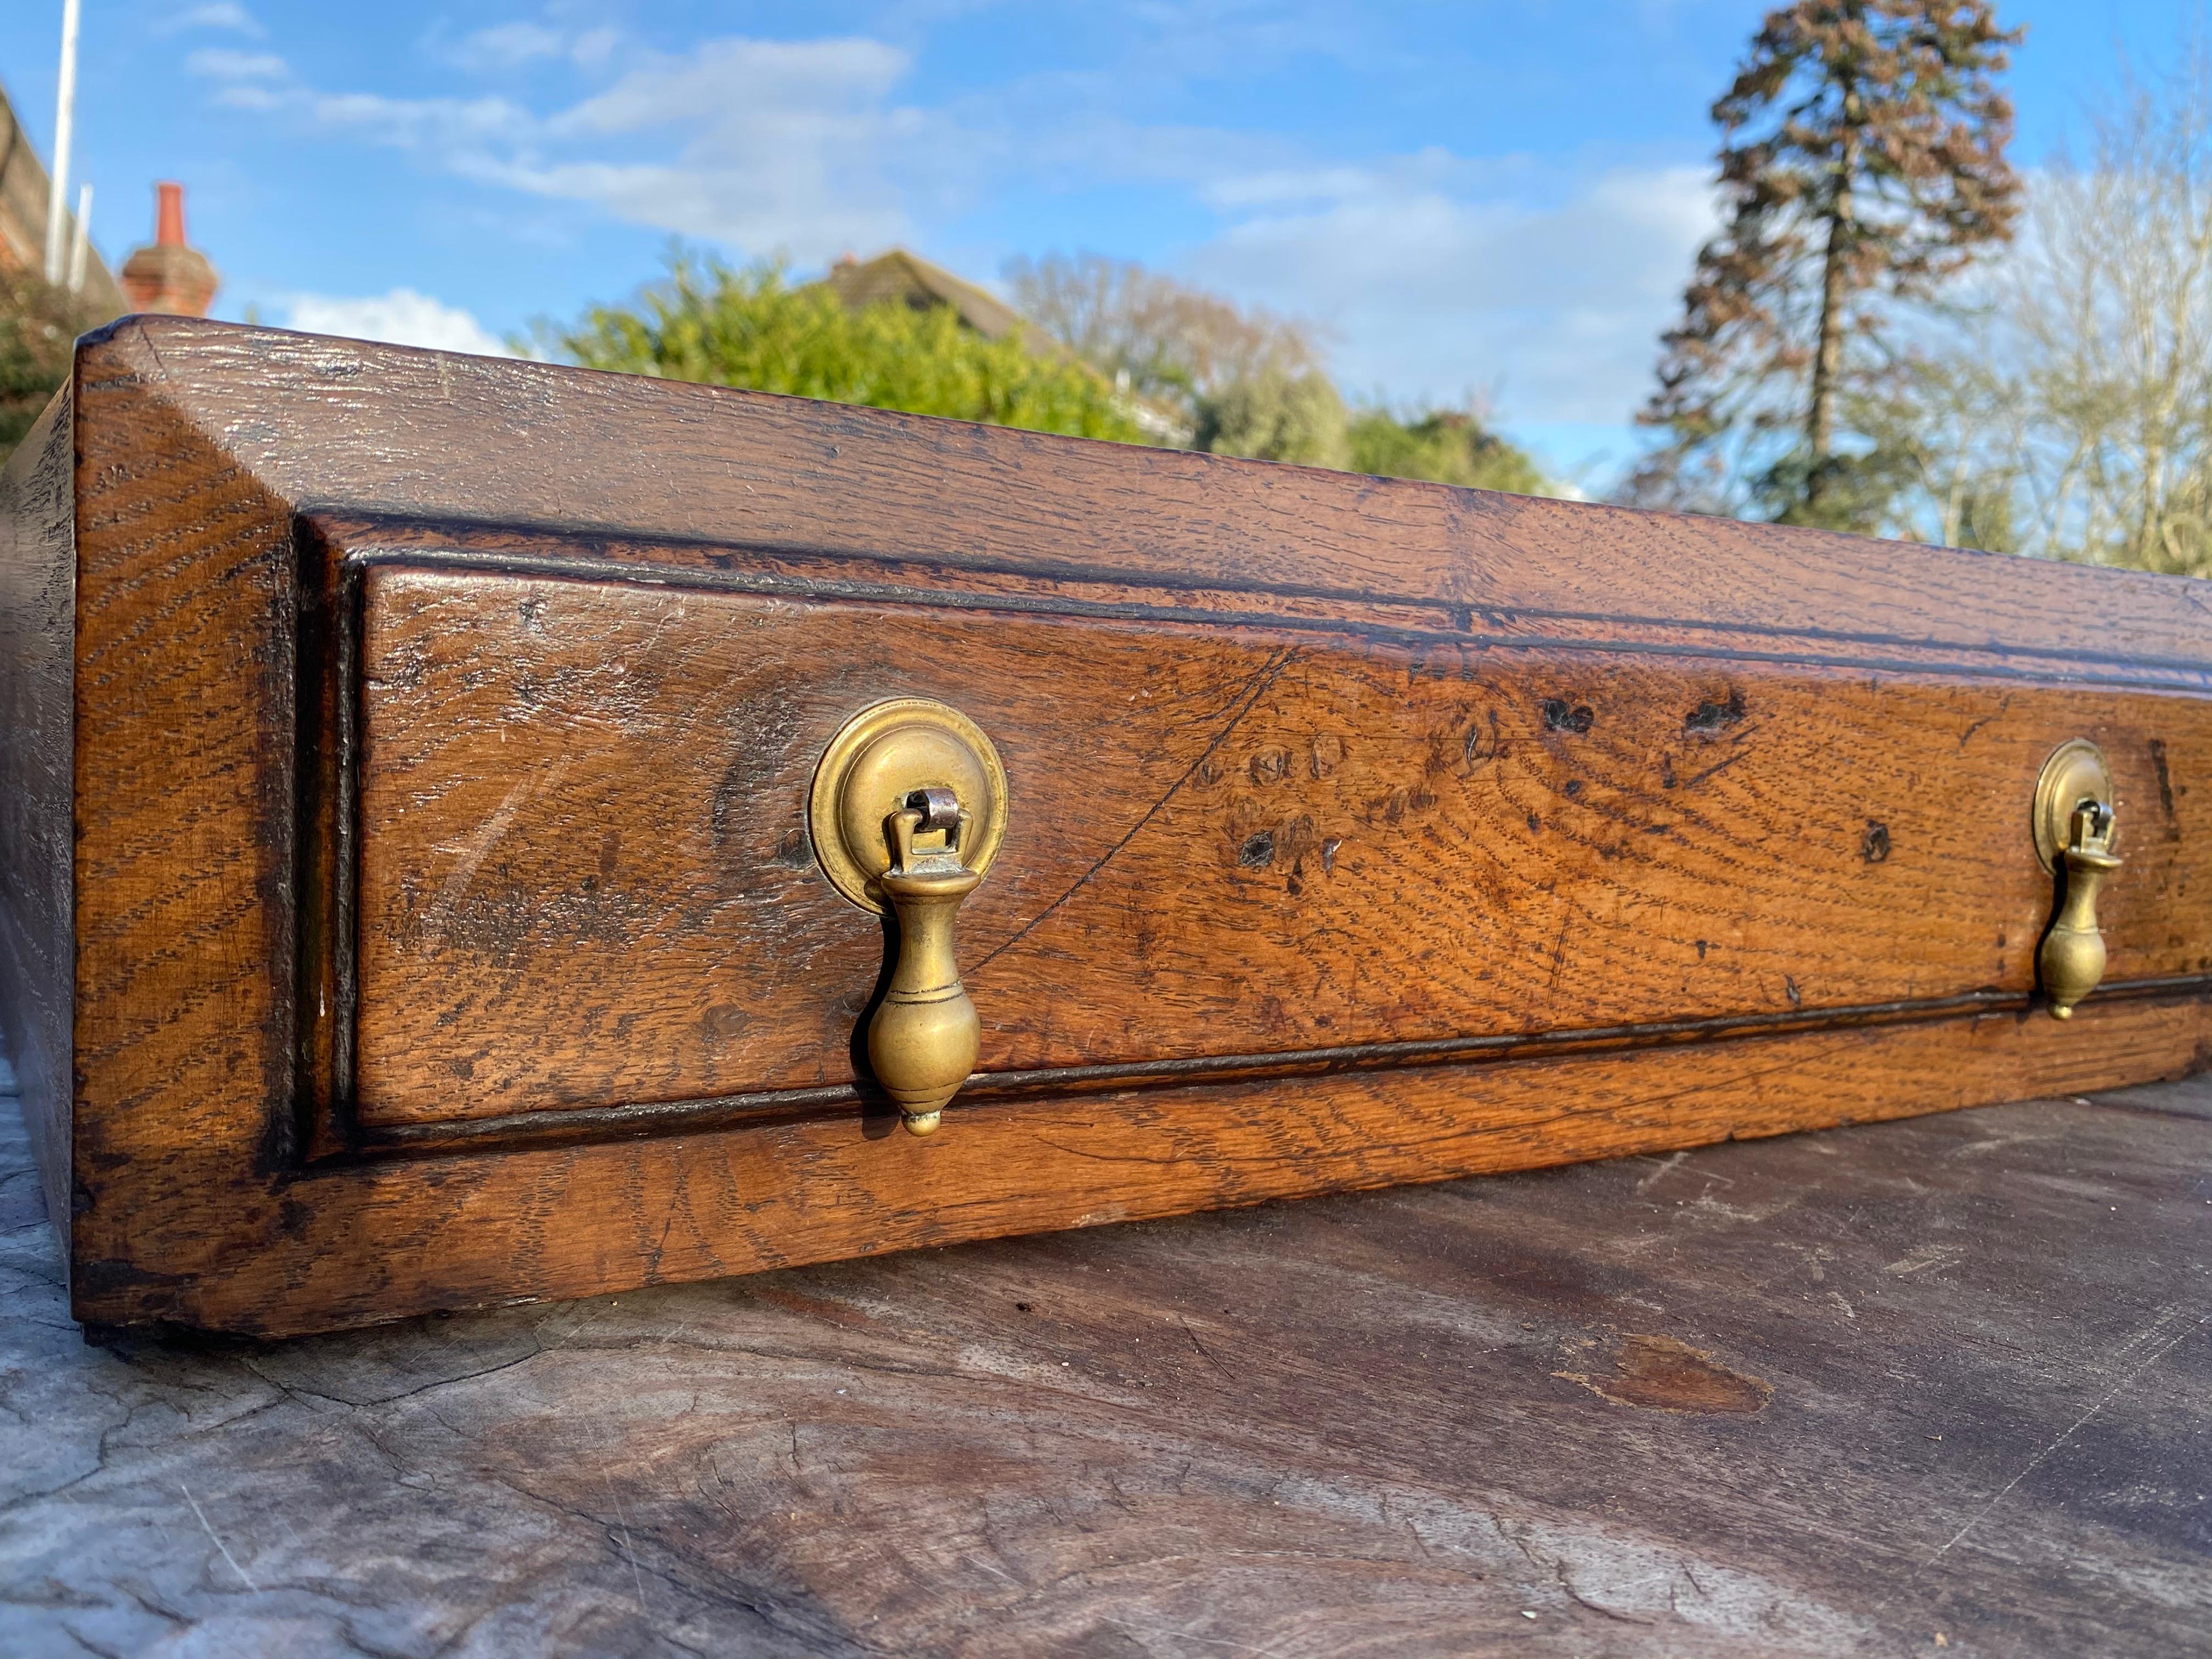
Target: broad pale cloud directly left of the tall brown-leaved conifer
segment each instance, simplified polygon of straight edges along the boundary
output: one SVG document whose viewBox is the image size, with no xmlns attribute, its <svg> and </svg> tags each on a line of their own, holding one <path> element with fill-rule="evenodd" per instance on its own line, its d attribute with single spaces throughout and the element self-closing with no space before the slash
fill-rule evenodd
<svg viewBox="0 0 2212 1659">
<path fill-rule="evenodd" d="M 1186 268 L 1321 319 L 1354 392 L 1495 392 L 1500 414 L 1528 422 L 1626 418 L 1714 228 L 1710 173 L 1619 170 L 1531 199 L 1528 188 L 1480 188 L 1482 170 L 1453 181 L 1455 170 L 1431 153 L 1336 168 L 1301 192 L 1225 181 L 1219 199 L 1263 210 L 1194 248 Z M 1279 199 L 1292 206 L 1265 206 Z"/>
</svg>

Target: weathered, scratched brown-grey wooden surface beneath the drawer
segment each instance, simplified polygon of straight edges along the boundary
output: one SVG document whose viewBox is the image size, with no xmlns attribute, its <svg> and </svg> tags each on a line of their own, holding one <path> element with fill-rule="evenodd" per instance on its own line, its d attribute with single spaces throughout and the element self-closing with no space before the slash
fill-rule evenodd
<svg viewBox="0 0 2212 1659">
<path fill-rule="evenodd" d="M 2201 1652 L 2208 1168 L 2194 1079 L 86 1345 L 4 1099 L 0 1648 Z"/>
</svg>

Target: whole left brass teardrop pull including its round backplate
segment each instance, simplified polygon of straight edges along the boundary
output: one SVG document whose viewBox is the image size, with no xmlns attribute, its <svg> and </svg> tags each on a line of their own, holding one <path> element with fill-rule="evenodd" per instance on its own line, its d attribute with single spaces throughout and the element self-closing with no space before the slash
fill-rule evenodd
<svg viewBox="0 0 2212 1659">
<path fill-rule="evenodd" d="M 998 750 L 975 721 L 925 697 L 865 708 L 814 768 L 807 827 L 836 889 L 898 918 L 867 1064 L 905 1126 L 931 1135 L 982 1040 L 953 960 L 953 920 L 1006 834 Z"/>
</svg>

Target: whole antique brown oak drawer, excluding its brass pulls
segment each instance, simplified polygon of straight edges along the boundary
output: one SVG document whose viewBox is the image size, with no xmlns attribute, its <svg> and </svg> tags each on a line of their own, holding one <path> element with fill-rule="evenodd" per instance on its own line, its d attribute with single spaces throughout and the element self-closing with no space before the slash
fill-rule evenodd
<svg viewBox="0 0 2212 1659">
<path fill-rule="evenodd" d="M 186 321 L 7 473 L 0 1018 L 73 1296 L 243 1332 L 2177 1075 L 2212 586 Z M 995 745 L 865 1062 L 858 710 Z M 73 719 L 71 719 L 73 717 Z M 2104 984 L 2037 993 L 2093 741 Z"/>
</svg>

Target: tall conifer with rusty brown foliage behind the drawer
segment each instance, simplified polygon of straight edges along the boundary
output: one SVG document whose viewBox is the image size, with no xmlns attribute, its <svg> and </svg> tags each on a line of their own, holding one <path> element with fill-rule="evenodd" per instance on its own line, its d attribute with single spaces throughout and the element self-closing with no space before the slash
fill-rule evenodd
<svg viewBox="0 0 2212 1659">
<path fill-rule="evenodd" d="M 1639 420 L 1670 442 L 1632 498 L 1712 509 L 1736 473 L 1767 518 L 1871 529 L 1896 469 L 1838 447 L 1838 405 L 1878 361 L 1885 312 L 2013 232 L 2013 106 L 1995 77 L 2020 38 L 1993 0 L 1767 13 L 1712 106 L 1728 226 L 1661 338 Z"/>
</svg>

